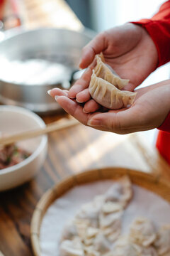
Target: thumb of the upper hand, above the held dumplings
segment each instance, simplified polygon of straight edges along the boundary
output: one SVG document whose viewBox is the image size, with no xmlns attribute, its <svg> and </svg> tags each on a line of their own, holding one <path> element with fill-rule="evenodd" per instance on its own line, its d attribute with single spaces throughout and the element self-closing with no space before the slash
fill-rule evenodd
<svg viewBox="0 0 170 256">
<path fill-rule="evenodd" d="M 94 60 L 94 56 L 106 50 L 106 48 L 105 33 L 99 33 L 98 36 L 83 48 L 79 68 L 87 68 Z"/>
</svg>

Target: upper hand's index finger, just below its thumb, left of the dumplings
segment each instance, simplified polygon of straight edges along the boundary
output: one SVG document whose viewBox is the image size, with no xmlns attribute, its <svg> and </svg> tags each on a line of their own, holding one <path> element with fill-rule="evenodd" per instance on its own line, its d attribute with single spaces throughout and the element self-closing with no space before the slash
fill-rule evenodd
<svg viewBox="0 0 170 256">
<path fill-rule="evenodd" d="M 71 99 L 74 99 L 77 96 L 77 93 L 79 93 L 82 90 L 89 87 L 89 83 L 91 80 L 91 74 L 92 74 L 92 70 L 91 70 L 91 68 L 88 68 L 84 72 L 84 74 L 81 76 L 81 78 L 79 80 L 77 80 L 77 82 L 75 82 L 75 84 L 71 87 L 71 89 L 69 90 L 69 93 L 68 93 L 68 96 Z"/>
</svg>

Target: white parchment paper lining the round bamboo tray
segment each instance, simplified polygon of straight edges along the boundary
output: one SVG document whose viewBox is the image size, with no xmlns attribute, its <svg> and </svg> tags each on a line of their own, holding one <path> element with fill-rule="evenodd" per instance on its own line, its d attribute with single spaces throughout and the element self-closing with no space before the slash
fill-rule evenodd
<svg viewBox="0 0 170 256">
<path fill-rule="evenodd" d="M 74 218 L 83 203 L 105 193 L 113 181 L 98 181 L 72 188 L 48 208 L 40 229 L 41 256 L 59 256 L 59 241 L 64 225 Z M 136 217 L 147 217 L 159 227 L 170 224 L 170 204 L 156 194 L 133 185 L 134 196 L 123 215 L 122 233 L 129 233 Z"/>
</svg>

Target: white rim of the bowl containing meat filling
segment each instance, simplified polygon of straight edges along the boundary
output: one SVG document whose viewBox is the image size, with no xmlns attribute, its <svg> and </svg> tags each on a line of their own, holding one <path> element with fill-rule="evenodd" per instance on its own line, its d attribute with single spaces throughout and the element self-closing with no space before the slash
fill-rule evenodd
<svg viewBox="0 0 170 256">
<path fill-rule="evenodd" d="M 1 105 L 0 112 L 2 110 L 5 112 L 17 112 L 17 113 L 25 114 L 26 116 L 35 120 L 35 122 L 37 122 L 37 124 L 39 124 L 40 127 L 42 128 L 45 127 L 45 122 L 42 120 L 41 117 L 38 116 L 38 114 L 35 114 L 34 112 L 27 110 L 23 107 L 16 107 L 12 105 Z M 33 151 L 33 153 L 30 154 L 30 156 L 28 156 L 27 159 L 24 159 L 23 161 L 21 161 L 21 163 L 15 164 L 14 166 L 1 169 L 0 176 L 3 174 L 8 174 L 10 172 L 16 171 L 18 169 L 23 168 L 23 166 L 27 166 L 28 164 L 30 164 L 30 162 L 32 162 L 38 156 L 38 154 L 40 154 L 40 151 L 42 151 L 42 149 L 44 149 L 46 145 L 47 145 L 47 135 L 43 135 L 37 149 L 35 149 L 35 151 Z"/>
</svg>

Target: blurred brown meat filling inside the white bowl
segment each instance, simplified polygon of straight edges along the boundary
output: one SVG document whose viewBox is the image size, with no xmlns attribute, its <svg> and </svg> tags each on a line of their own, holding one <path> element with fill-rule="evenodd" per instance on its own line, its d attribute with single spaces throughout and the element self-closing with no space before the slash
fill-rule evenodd
<svg viewBox="0 0 170 256">
<path fill-rule="evenodd" d="M 30 153 L 16 144 L 0 146 L 0 170 L 19 164 L 30 156 Z"/>
</svg>

